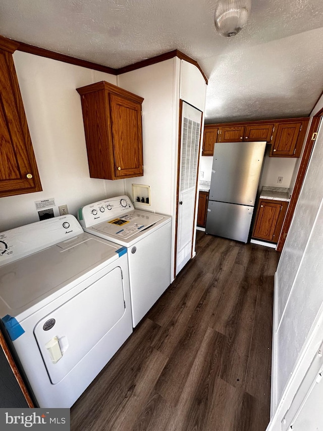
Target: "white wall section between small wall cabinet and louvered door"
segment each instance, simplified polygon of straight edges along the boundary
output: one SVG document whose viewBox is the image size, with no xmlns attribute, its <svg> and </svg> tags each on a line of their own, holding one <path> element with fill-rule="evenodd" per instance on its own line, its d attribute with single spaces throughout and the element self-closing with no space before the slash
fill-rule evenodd
<svg viewBox="0 0 323 431">
<path fill-rule="evenodd" d="M 178 136 L 179 59 L 153 64 L 118 77 L 119 85 L 144 98 L 142 134 L 144 175 L 125 180 L 132 196 L 132 184 L 150 186 L 150 207 L 137 208 L 173 215 L 174 181 L 177 169 L 175 141 Z M 178 138 L 177 138 L 178 139 Z"/>
</svg>

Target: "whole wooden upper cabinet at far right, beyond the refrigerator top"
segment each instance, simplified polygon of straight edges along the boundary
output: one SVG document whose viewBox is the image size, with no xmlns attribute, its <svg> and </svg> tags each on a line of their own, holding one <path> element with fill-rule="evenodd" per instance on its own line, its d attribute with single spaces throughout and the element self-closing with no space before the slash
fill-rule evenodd
<svg viewBox="0 0 323 431">
<path fill-rule="evenodd" d="M 308 118 L 280 121 L 273 134 L 270 156 L 299 157 L 308 121 Z"/>
</svg>

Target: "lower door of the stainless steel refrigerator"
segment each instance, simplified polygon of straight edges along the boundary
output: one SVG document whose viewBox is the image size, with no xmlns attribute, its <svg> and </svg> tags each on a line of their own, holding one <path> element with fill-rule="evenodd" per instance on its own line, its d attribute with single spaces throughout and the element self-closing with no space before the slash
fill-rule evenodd
<svg viewBox="0 0 323 431">
<path fill-rule="evenodd" d="M 253 208 L 208 201 L 206 233 L 247 243 Z"/>
</svg>

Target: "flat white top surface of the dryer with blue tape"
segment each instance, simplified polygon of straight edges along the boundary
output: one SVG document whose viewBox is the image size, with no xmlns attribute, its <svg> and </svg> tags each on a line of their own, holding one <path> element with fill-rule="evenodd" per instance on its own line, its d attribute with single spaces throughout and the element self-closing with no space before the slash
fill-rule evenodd
<svg viewBox="0 0 323 431">
<path fill-rule="evenodd" d="M 17 317 L 53 301 L 119 258 L 120 246 L 81 233 L 0 267 L 0 318 Z M 65 289 L 64 289 L 65 288 Z"/>
</svg>

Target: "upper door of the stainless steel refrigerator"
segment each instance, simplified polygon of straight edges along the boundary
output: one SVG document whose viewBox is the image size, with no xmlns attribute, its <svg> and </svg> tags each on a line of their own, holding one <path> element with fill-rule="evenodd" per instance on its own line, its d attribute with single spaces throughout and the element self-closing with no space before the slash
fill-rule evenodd
<svg viewBox="0 0 323 431">
<path fill-rule="evenodd" d="M 209 199 L 254 206 L 266 142 L 214 145 Z"/>
</svg>

